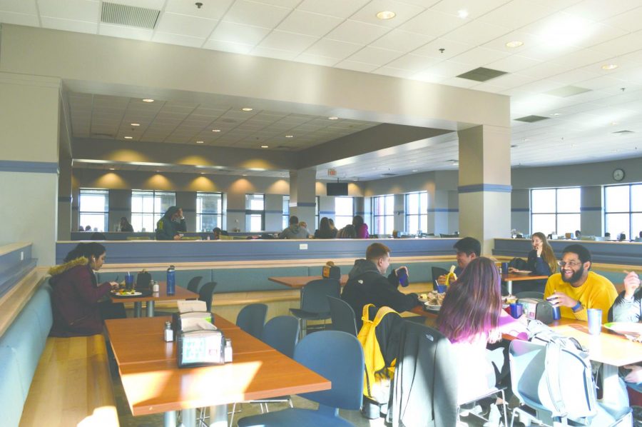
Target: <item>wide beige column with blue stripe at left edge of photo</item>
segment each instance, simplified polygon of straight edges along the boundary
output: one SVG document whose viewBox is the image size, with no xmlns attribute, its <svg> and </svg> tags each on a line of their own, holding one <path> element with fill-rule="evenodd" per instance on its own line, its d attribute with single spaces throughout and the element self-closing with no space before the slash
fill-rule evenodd
<svg viewBox="0 0 642 427">
<path fill-rule="evenodd" d="M 0 244 L 32 242 L 41 266 L 55 264 L 60 89 L 60 79 L 0 73 Z"/>
</svg>

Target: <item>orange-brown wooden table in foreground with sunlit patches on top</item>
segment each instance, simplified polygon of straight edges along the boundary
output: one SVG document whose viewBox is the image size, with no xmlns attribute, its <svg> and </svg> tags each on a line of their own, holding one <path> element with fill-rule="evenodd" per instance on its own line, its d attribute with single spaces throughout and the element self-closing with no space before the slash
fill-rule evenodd
<svg viewBox="0 0 642 427">
<path fill-rule="evenodd" d="M 210 406 L 210 426 L 227 426 L 228 403 L 327 390 L 330 381 L 293 361 L 230 321 L 214 323 L 232 339 L 234 361 L 179 369 L 175 343 L 163 341 L 169 317 L 105 321 L 123 388 L 134 416 L 165 413 L 175 426 L 195 424 L 195 408 Z"/>
</svg>

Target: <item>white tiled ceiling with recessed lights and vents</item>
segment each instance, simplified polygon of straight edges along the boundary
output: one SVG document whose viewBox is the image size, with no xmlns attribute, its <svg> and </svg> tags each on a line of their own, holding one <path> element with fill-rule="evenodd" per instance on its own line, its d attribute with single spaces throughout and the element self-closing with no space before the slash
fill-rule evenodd
<svg viewBox="0 0 642 427">
<path fill-rule="evenodd" d="M 269 56 L 509 95 L 512 119 L 531 114 L 550 117 L 533 124 L 512 121 L 513 166 L 642 155 L 638 150 L 642 132 L 642 0 L 200 1 L 201 9 L 190 0 L 118 0 L 121 4 L 160 10 L 153 30 L 101 23 L 101 1 L 95 0 L 0 0 L 0 22 Z M 397 16 L 380 21 L 375 14 L 383 10 L 394 11 Z M 461 10 L 466 10 L 468 16 L 459 17 Z M 524 45 L 506 47 L 506 42 L 515 40 Z M 444 49 L 443 53 L 439 49 Z M 604 70 L 601 67 L 605 64 L 616 64 L 618 68 Z M 457 78 L 478 66 L 509 74 L 485 83 Z M 551 94 L 566 86 L 588 91 L 566 97 Z M 128 130 L 125 118 L 136 100 L 115 101 L 122 104 L 119 111 L 123 114 L 120 121 L 116 114 L 111 120 L 105 119 L 103 132 L 106 115 L 96 115 L 96 96 L 72 95 L 77 95 L 78 105 L 87 108 L 90 98 L 93 104 L 89 116 L 79 108 L 78 114 L 84 116 L 80 122 L 76 120 L 82 126 L 74 125 L 74 133 L 77 126 L 78 132 L 124 136 Z M 139 131 L 140 138 L 183 139 L 194 144 L 200 132 L 205 134 L 206 128 L 220 117 L 238 116 L 238 111 L 230 111 L 233 106 L 222 106 L 204 114 L 212 119 L 207 124 L 205 118 L 197 124 L 190 116 L 199 106 L 180 109 L 178 105 L 174 109 L 170 101 L 165 105 L 172 107 L 168 110 L 170 115 L 188 114 L 175 126 L 162 128 L 158 127 L 160 121 L 158 126 L 154 124 L 156 116 L 148 116 L 145 132 Z M 158 109 L 158 104 L 154 108 Z M 232 141 L 221 135 L 220 144 L 250 144 L 253 134 L 262 133 L 295 112 L 253 113 L 282 116 L 263 121 L 262 129 L 257 129 L 257 124 L 252 129 L 241 125 L 238 132 L 242 137 Z M 96 120 L 91 119 L 93 116 Z M 323 119 L 295 116 L 300 119 L 292 123 L 295 126 L 312 126 Z M 94 121 L 100 132 L 94 129 Z M 201 131 L 198 126 L 203 126 Z M 357 122 L 355 126 L 372 124 Z M 293 149 L 301 149 L 318 144 L 323 139 L 317 134 L 321 129 L 304 130 L 300 138 L 307 141 L 301 139 L 302 145 L 295 141 L 279 141 L 278 145 L 291 144 Z M 292 128 L 279 130 L 294 133 Z M 634 133 L 613 133 L 623 130 Z M 229 132 L 234 134 L 233 129 Z M 269 137 L 276 136 L 280 134 Z M 442 169 L 444 164 L 454 167 L 445 160 L 457 159 L 456 141 L 444 142 L 432 150 L 436 152 L 422 148 L 405 154 L 382 154 L 371 160 L 374 166 L 369 166 L 403 174 Z M 409 169 L 410 160 L 418 160 L 422 168 Z M 347 164 L 337 169 L 346 177 L 365 178 L 358 175 L 362 166 Z"/>
</svg>

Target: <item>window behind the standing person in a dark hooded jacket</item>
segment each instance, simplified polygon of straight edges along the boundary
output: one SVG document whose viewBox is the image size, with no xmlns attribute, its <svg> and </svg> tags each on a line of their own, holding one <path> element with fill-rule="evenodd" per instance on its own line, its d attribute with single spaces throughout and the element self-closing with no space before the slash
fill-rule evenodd
<svg viewBox="0 0 642 427">
<path fill-rule="evenodd" d="M 154 231 L 170 206 L 176 205 L 173 191 L 131 191 L 131 226 L 134 231 Z"/>
</svg>

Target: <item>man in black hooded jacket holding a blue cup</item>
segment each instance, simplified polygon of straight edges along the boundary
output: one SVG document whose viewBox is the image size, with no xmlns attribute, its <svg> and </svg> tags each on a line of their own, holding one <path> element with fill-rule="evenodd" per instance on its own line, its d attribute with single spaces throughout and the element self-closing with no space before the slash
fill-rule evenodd
<svg viewBox="0 0 642 427">
<path fill-rule="evenodd" d="M 348 281 L 343 288 L 341 299 L 350 304 L 355 311 L 357 331 L 361 329 L 363 306 L 374 304 L 387 306 L 395 311 L 407 311 L 419 303 L 417 293 L 399 291 L 397 273 L 408 272 L 405 266 L 392 270 L 384 276 L 390 265 L 390 248 L 382 243 L 372 243 L 366 250 L 365 259 L 357 259 L 348 273 Z"/>
</svg>

